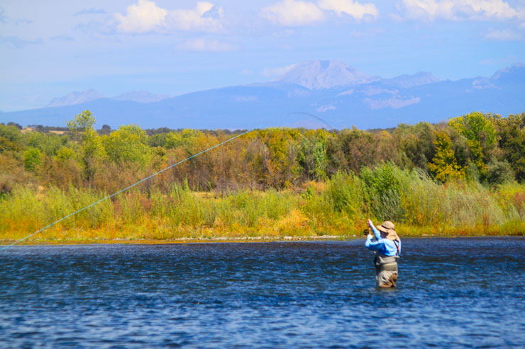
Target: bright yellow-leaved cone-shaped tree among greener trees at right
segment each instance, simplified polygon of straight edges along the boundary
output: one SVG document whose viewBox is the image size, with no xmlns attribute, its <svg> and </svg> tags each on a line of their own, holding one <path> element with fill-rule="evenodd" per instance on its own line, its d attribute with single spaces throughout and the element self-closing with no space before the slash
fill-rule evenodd
<svg viewBox="0 0 525 349">
<path fill-rule="evenodd" d="M 429 169 L 434 178 L 443 183 L 451 179 L 464 178 L 465 172 L 455 159 L 452 142 L 448 135 L 445 132 L 437 132 L 434 144 L 436 144 L 436 154 L 429 163 Z"/>
</svg>

